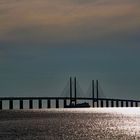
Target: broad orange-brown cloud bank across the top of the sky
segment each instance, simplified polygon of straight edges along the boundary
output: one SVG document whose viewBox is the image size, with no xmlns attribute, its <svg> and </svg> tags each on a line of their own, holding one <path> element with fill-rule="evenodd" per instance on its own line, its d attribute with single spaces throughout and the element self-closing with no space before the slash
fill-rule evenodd
<svg viewBox="0 0 140 140">
<path fill-rule="evenodd" d="M 7 0 L 0 6 L 0 41 L 100 40 L 135 33 L 140 1 Z"/>
</svg>

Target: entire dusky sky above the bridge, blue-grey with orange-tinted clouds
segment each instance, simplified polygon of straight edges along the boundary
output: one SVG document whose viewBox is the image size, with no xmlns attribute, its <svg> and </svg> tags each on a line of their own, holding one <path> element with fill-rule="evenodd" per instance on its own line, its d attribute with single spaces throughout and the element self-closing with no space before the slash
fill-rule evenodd
<svg viewBox="0 0 140 140">
<path fill-rule="evenodd" d="M 1 0 L 0 96 L 86 93 L 140 99 L 139 0 Z"/>
</svg>

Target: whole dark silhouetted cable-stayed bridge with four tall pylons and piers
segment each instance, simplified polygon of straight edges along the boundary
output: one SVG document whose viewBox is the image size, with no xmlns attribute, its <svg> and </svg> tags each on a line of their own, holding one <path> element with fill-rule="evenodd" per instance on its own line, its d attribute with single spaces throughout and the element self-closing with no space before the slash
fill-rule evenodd
<svg viewBox="0 0 140 140">
<path fill-rule="evenodd" d="M 100 86 L 98 80 L 92 80 L 91 82 L 91 97 L 80 97 L 78 95 L 78 82 L 76 77 L 74 78 L 74 82 L 72 81 L 72 78 L 70 77 L 70 80 L 68 82 L 68 87 L 66 86 L 66 90 L 63 91 L 63 93 L 68 93 L 69 96 L 63 95 L 61 97 L 0 97 L 0 110 L 3 109 L 3 103 L 5 101 L 8 101 L 9 107 L 8 109 L 15 109 L 14 108 L 14 101 L 17 101 L 19 104 L 19 109 L 24 109 L 25 101 L 28 102 L 28 109 L 34 108 L 34 101 L 37 101 L 37 108 L 52 108 L 52 102 L 55 104 L 55 108 L 63 108 L 67 104 L 71 104 L 74 102 L 76 105 L 77 102 L 83 102 L 86 101 L 90 104 L 91 107 L 139 107 L 140 100 L 126 100 L 126 99 L 113 99 L 113 98 L 106 98 L 106 97 L 100 97 Z M 74 87 L 74 88 L 73 88 Z M 73 97 L 74 92 L 74 97 Z M 44 101 L 46 102 L 46 106 L 43 107 Z M 62 104 L 61 104 L 61 103 Z"/>
</svg>

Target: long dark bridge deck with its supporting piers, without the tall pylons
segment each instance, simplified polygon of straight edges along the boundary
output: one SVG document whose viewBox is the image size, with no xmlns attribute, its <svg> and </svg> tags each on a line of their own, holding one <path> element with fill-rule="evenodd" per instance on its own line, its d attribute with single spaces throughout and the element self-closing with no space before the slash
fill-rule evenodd
<svg viewBox="0 0 140 140">
<path fill-rule="evenodd" d="M 44 108 L 43 100 L 46 101 L 46 108 L 51 108 L 52 103 L 51 101 L 55 101 L 55 108 L 60 107 L 60 101 L 63 102 L 61 108 L 65 107 L 67 103 L 70 102 L 69 97 L 0 97 L 0 110 L 3 109 L 3 101 L 9 102 L 9 109 L 14 109 L 14 101 L 19 102 L 19 109 L 24 109 L 24 101 L 28 101 L 29 109 L 33 109 L 33 101 L 38 102 L 38 108 Z M 75 98 L 72 98 L 74 101 Z M 125 100 L 125 99 L 111 99 L 111 98 L 88 98 L 88 97 L 77 97 L 77 101 L 88 101 L 90 102 L 91 107 L 139 107 L 140 101 L 139 100 Z"/>
</svg>

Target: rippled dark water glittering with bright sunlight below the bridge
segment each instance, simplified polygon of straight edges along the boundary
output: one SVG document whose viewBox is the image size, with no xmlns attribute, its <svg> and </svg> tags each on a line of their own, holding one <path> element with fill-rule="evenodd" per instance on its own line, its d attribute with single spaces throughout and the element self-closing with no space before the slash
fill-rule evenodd
<svg viewBox="0 0 140 140">
<path fill-rule="evenodd" d="M 0 140 L 133 139 L 140 139 L 140 108 L 0 111 Z"/>
</svg>

